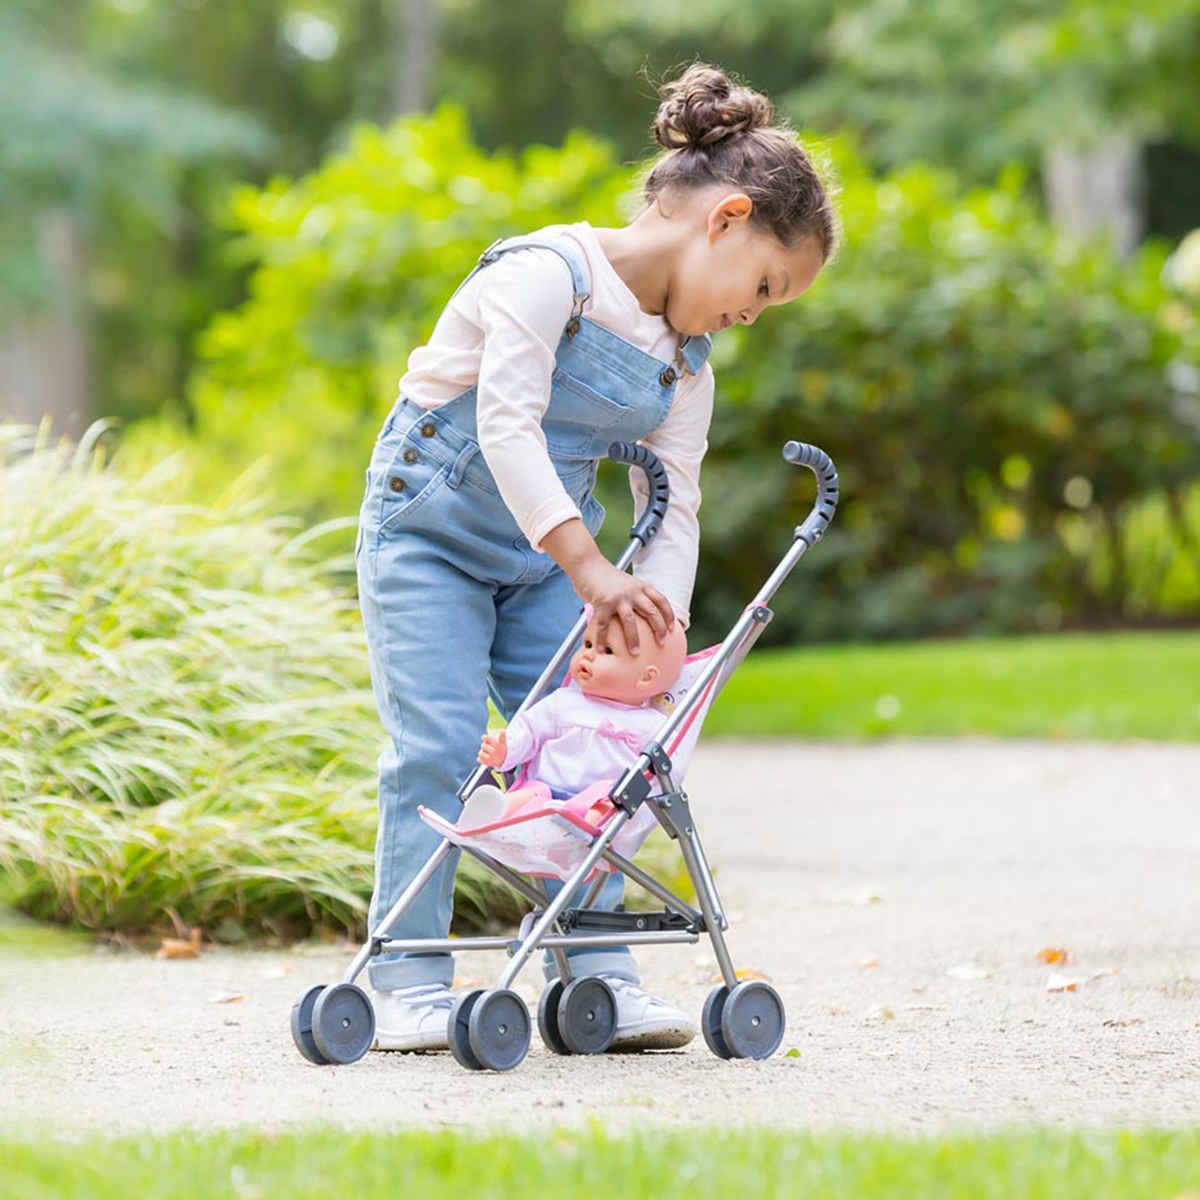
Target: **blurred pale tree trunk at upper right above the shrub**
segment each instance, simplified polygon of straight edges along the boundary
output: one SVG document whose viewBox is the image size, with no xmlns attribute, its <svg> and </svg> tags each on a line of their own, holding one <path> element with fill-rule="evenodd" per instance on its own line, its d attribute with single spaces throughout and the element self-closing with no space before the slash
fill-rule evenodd
<svg viewBox="0 0 1200 1200">
<path fill-rule="evenodd" d="M 1138 248 L 1145 173 L 1141 143 L 1132 133 L 1114 133 L 1091 149 L 1049 146 L 1042 167 L 1050 218 L 1062 233 L 1086 238 L 1106 229 L 1122 258 Z"/>
</svg>

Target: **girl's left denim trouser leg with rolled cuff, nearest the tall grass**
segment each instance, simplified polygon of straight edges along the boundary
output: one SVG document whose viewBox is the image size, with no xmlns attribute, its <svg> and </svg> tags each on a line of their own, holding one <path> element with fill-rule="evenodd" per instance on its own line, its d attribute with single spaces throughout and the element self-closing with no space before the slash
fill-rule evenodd
<svg viewBox="0 0 1200 1200">
<path fill-rule="evenodd" d="M 437 848 L 416 805 L 448 821 L 462 810 L 458 785 L 487 724 L 487 655 L 494 631 L 492 592 L 446 563 L 420 538 L 379 538 L 359 551 L 359 600 L 371 682 L 389 745 L 379 757 L 379 826 L 370 924 L 374 930 Z M 450 929 L 458 852 L 448 859 L 391 930 L 395 937 L 444 938 Z M 372 960 L 379 991 L 450 984 L 449 954 Z"/>
</svg>

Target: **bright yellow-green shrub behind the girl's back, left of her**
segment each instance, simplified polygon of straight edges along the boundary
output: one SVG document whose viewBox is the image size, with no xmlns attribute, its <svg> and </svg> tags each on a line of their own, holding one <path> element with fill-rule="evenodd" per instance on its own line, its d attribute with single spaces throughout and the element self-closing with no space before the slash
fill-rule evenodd
<svg viewBox="0 0 1200 1200">
<path fill-rule="evenodd" d="M 626 182 L 583 134 L 518 160 L 485 155 L 444 108 L 361 126 L 301 180 L 240 188 L 234 252 L 256 269 L 250 298 L 198 347 L 197 438 L 168 418 L 146 422 L 131 449 L 152 460 L 164 439 L 190 445 L 205 492 L 269 455 L 287 511 L 355 511 L 408 354 L 482 250 L 556 221 L 612 223 Z"/>
</svg>

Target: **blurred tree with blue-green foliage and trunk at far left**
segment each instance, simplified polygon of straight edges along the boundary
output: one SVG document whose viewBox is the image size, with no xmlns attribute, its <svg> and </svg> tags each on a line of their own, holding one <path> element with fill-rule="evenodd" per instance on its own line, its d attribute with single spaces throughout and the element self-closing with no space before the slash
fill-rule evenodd
<svg viewBox="0 0 1200 1200">
<path fill-rule="evenodd" d="M 83 53 L 70 19 L 0 14 L 0 404 L 77 428 L 92 410 L 92 284 L 114 218 L 169 224 L 181 175 L 260 152 L 254 122 Z"/>
</svg>

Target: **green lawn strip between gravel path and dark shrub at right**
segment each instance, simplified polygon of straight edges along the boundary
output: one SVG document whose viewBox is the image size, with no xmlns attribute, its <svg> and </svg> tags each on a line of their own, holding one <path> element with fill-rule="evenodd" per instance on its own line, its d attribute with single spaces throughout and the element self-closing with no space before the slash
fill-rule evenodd
<svg viewBox="0 0 1200 1200">
<path fill-rule="evenodd" d="M 755 652 L 706 733 L 1195 742 L 1200 632 Z"/>
</svg>

